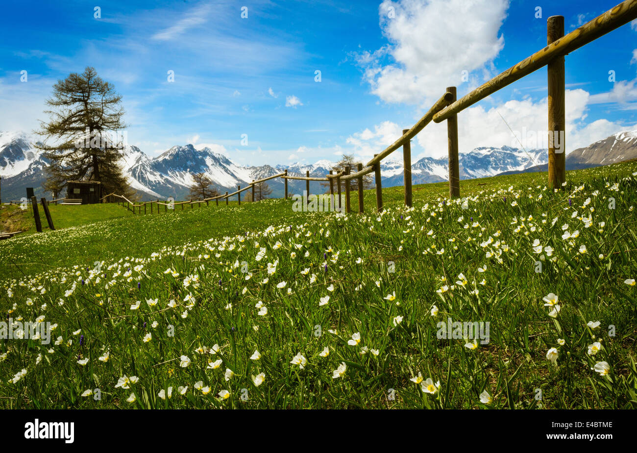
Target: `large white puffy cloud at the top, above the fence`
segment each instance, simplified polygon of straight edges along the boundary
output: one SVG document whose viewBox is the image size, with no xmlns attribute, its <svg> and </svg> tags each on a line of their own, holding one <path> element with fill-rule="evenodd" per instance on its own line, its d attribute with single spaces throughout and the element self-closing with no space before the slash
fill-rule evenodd
<svg viewBox="0 0 637 453">
<path fill-rule="evenodd" d="M 508 0 L 383 1 L 380 22 L 390 43 L 358 56 L 364 80 L 385 102 L 433 103 L 446 87 L 461 85 L 462 71 L 482 74 L 497 57 L 507 8 Z M 394 63 L 383 65 L 384 57 Z"/>
</svg>

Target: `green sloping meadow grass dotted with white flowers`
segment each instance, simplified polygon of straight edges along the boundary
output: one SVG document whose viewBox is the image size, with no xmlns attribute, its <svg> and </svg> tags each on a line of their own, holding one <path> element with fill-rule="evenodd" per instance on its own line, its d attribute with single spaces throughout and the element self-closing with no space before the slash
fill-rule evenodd
<svg viewBox="0 0 637 453">
<path fill-rule="evenodd" d="M 367 214 L 268 200 L 5 240 L 0 309 L 55 329 L 0 340 L 0 404 L 634 408 L 635 173 L 569 172 L 558 193 L 546 174 L 462 181 L 468 200 L 415 186 L 412 209 L 387 188 L 382 214 L 367 191 Z M 489 342 L 438 338 L 447 318 L 488 322 Z"/>
</svg>

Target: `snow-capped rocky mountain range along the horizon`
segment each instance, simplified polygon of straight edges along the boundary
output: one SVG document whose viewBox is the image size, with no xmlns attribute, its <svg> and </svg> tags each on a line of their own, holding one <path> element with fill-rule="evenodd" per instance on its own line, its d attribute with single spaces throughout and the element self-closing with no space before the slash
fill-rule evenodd
<svg viewBox="0 0 637 453">
<path fill-rule="evenodd" d="M 25 188 L 33 187 L 36 196 L 45 196 L 42 183 L 48 162 L 41 151 L 34 148 L 36 137 L 24 132 L 0 131 L 0 196 L 6 202 L 25 196 Z M 192 144 L 173 146 L 157 157 L 149 157 L 137 146 L 127 145 L 122 150 L 120 165 L 128 176 L 132 188 L 142 200 L 185 199 L 192 184 L 192 174 L 204 172 L 223 193 L 234 192 L 252 180 L 267 178 L 287 169 L 291 176 L 323 177 L 335 162 L 318 160 L 314 164 L 291 165 L 238 165 L 223 154 L 210 148 L 197 149 Z M 400 151 L 396 151 L 399 155 Z M 637 157 L 637 131 L 619 132 L 606 139 L 579 148 L 566 157 L 567 169 L 613 164 Z M 461 179 L 482 178 L 497 174 L 529 171 L 547 171 L 547 150 L 520 150 L 510 146 L 475 148 L 460 153 Z M 402 159 L 387 158 L 381 164 L 383 187 L 403 185 Z M 436 183 L 448 180 L 447 158 L 424 157 L 412 163 L 412 183 Z M 311 181 L 311 193 L 323 193 L 326 188 Z M 268 181 L 271 197 L 282 197 L 284 183 L 280 178 Z M 305 181 L 289 180 L 289 193 L 302 193 Z M 50 194 L 47 194 L 50 196 Z"/>
</svg>

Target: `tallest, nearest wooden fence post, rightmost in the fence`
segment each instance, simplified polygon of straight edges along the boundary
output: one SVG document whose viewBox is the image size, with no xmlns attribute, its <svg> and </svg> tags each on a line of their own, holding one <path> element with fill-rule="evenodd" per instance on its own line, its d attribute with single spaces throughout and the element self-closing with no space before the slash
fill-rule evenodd
<svg viewBox="0 0 637 453">
<path fill-rule="evenodd" d="M 547 44 L 564 36 L 564 16 L 547 19 Z M 566 181 L 564 57 L 547 65 L 548 73 L 548 183 L 554 189 Z M 557 144 L 557 146 L 555 146 Z"/>
</svg>

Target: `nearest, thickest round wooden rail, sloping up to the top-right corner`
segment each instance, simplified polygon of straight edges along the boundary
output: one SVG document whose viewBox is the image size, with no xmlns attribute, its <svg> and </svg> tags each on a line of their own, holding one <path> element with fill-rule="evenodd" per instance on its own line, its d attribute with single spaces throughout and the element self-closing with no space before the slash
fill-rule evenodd
<svg viewBox="0 0 637 453">
<path fill-rule="evenodd" d="M 637 18 L 637 0 L 627 0 L 618 4 L 612 8 L 612 10 L 606 11 L 601 16 L 582 25 L 582 27 L 571 31 L 564 36 L 564 38 L 557 39 L 557 41 L 554 41 L 542 50 L 520 61 L 515 66 L 510 67 L 505 72 L 495 76 L 487 83 L 484 83 L 439 113 L 436 113 L 436 115 L 434 115 L 434 123 L 447 120 L 450 116 L 494 94 L 497 90 L 506 87 L 506 85 L 537 71 L 541 67 L 547 66 L 552 60 L 563 57 L 567 53 L 587 45 L 600 36 L 631 22 L 631 20 L 635 18 Z"/>
</svg>

